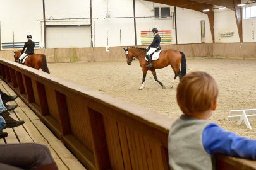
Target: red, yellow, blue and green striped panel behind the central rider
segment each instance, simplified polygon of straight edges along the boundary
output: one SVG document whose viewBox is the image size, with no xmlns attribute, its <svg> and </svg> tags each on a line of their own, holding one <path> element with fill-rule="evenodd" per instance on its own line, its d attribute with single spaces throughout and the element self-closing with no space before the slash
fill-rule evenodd
<svg viewBox="0 0 256 170">
<path fill-rule="evenodd" d="M 161 37 L 161 43 L 162 45 L 170 45 L 172 44 L 172 36 L 171 36 L 171 30 L 159 30 L 158 34 Z M 141 31 L 140 37 L 142 38 L 141 43 L 142 45 L 150 45 L 154 39 L 154 35 L 152 31 Z"/>
</svg>

